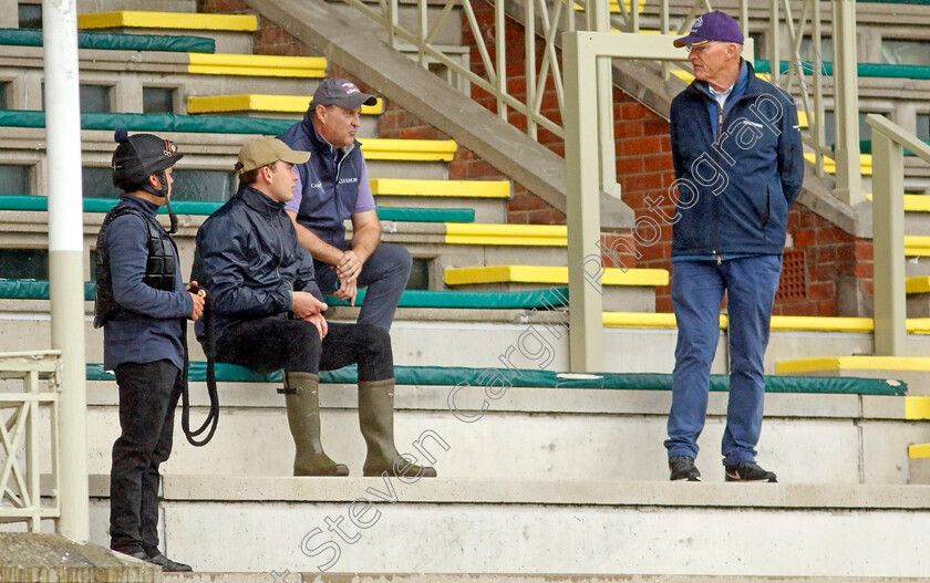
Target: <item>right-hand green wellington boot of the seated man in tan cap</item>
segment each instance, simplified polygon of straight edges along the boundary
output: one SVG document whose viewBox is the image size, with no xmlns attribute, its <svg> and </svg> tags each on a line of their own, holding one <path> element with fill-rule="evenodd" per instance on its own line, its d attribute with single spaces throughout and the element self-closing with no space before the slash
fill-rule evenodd
<svg viewBox="0 0 930 583">
<path fill-rule="evenodd" d="M 436 477 L 434 468 L 410 464 L 394 447 L 393 378 L 359 383 L 359 425 L 368 445 L 364 476 L 381 476 L 386 471 L 407 478 Z"/>
</svg>

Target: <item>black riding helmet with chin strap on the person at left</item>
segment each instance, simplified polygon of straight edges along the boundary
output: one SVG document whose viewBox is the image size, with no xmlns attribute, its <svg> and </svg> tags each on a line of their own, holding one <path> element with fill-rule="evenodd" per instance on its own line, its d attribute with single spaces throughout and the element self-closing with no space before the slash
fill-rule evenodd
<svg viewBox="0 0 930 583">
<path fill-rule="evenodd" d="M 120 144 L 113 153 L 113 186 L 123 191 L 145 190 L 165 199 L 172 219 L 172 229 L 177 232 L 177 217 L 172 211 L 168 200 L 168 181 L 165 169 L 174 166 L 184 154 L 177 153 L 177 145 L 169 139 L 162 139 L 153 134 L 128 135 L 125 127 L 117 127 L 114 139 Z M 158 175 L 161 190 L 148 181 L 153 174 Z"/>
</svg>

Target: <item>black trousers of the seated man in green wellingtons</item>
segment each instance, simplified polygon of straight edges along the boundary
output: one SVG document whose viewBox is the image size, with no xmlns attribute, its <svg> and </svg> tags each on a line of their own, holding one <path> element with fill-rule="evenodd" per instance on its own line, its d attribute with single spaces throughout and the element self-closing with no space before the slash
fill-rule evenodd
<svg viewBox="0 0 930 583">
<path fill-rule="evenodd" d="M 372 324 L 329 323 L 320 341 L 317 326 L 302 320 L 261 317 L 226 329 L 216 341 L 216 361 L 260 373 L 319 373 L 359 365 L 359 381 L 394 376 L 391 335 Z"/>
</svg>

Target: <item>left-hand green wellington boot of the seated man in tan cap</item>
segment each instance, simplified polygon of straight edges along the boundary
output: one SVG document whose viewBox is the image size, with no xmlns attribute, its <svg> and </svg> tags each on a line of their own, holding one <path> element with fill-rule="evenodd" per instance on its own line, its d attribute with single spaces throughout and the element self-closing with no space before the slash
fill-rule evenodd
<svg viewBox="0 0 930 583">
<path fill-rule="evenodd" d="M 285 403 L 288 425 L 297 455 L 294 476 L 349 476 L 344 464 L 337 464 L 320 444 L 320 377 L 312 373 L 285 373 Z"/>
</svg>

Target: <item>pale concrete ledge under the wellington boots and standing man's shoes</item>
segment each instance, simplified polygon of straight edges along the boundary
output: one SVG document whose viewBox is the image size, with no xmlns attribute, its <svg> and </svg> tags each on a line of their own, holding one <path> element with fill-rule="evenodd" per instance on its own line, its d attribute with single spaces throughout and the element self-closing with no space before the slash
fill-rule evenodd
<svg viewBox="0 0 930 583">
<path fill-rule="evenodd" d="M 352 502 L 369 488 L 397 478 L 287 478 L 165 476 L 164 500 Z M 105 477 L 97 481 L 106 482 Z M 92 481 L 91 485 L 94 482 Z M 100 489 L 92 497 L 108 496 Z M 930 510 L 930 486 L 701 483 L 589 480 L 420 479 L 405 503 L 657 506 L 802 510 Z"/>
</svg>

